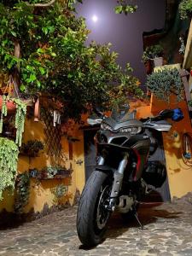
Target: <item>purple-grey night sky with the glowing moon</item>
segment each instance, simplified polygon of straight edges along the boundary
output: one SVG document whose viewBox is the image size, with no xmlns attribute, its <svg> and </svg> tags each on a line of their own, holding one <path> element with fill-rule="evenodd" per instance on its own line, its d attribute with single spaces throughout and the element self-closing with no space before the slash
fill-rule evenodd
<svg viewBox="0 0 192 256">
<path fill-rule="evenodd" d="M 84 0 L 78 4 L 77 11 L 86 18 L 91 31 L 88 44 L 92 40 L 99 44 L 112 43 L 112 49 L 119 53 L 119 64 L 125 67 L 130 62 L 134 74 L 144 84 L 143 32 L 163 28 L 166 0 L 136 0 L 137 12 L 127 16 L 114 13 L 116 3 L 115 0 Z"/>
</svg>

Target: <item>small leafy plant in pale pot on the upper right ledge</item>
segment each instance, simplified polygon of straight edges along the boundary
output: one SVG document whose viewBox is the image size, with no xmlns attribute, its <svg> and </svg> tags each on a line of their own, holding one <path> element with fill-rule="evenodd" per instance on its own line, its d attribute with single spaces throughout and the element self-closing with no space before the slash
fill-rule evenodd
<svg viewBox="0 0 192 256">
<path fill-rule="evenodd" d="M 154 44 L 146 47 L 143 51 L 143 62 L 154 61 L 154 67 L 159 67 L 163 65 L 163 48 L 160 44 Z"/>
</svg>

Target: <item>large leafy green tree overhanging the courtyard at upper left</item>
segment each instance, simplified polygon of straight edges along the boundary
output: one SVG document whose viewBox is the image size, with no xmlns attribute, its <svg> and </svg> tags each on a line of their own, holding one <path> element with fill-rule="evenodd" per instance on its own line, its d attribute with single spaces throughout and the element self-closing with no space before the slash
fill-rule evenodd
<svg viewBox="0 0 192 256">
<path fill-rule="evenodd" d="M 58 97 L 71 118 L 89 104 L 110 108 L 127 93 L 142 96 L 131 67 L 119 67 L 110 44 L 85 46 L 89 31 L 73 15 L 75 1 L 1 2 L 0 67 L 21 91 Z"/>
</svg>

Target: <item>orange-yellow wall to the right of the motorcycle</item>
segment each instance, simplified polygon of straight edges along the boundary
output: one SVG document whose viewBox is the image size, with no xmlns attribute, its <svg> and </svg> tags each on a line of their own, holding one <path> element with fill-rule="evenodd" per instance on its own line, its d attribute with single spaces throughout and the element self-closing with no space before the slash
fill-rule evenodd
<svg viewBox="0 0 192 256">
<path fill-rule="evenodd" d="M 166 168 L 171 196 L 181 197 L 192 191 L 192 166 L 187 166 L 182 158 L 182 136 L 185 132 L 192 132 L 189 111 L 186 101 L 177 102 L 172 97 L 170 104 L 157 100 L 152 96 L 151 113 L 154 115 L 165 108 L 181 108 L 184 119 L 172 122 L 172 130 L 163 133 L 163 142 L 166 155 Z M 177 134 L 177 137 L 174 137 Z"/>
</svg>

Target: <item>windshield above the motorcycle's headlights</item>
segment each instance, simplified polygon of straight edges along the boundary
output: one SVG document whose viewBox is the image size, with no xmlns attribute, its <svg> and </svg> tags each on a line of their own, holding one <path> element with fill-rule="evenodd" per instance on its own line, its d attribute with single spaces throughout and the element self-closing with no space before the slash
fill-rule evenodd
<svg viewBox="0 0 192 256">
<path fill-rule="evenodd" d="M 129 112 L 129 110 L 130 106 L 128 104 L 124 104 L 121 106 L 115 105 L 112 109 L 111 118 L 117 122 L 136 119 L 136 110 L 131 113 Z"/>
</svg>

